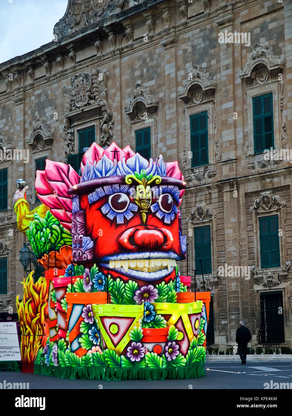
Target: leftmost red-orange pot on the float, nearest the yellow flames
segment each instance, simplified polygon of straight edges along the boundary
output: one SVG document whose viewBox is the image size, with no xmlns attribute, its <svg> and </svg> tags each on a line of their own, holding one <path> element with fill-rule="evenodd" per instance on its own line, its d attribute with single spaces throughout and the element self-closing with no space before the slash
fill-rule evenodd
<svg viewBox="0 0 292 416">
<path fill-rule="evenodd" d="M 57 341 L 57 312 L 55 311 L 55 302 L 52 301 L 51 292 L 54 290 L 53 280 L 65 274 L 65 269 L 45 270 L 45 280 L 47 283 L 47 305 L 48 305 L 48 325 L 50 330 L 50 341 Z"/>
</svg>

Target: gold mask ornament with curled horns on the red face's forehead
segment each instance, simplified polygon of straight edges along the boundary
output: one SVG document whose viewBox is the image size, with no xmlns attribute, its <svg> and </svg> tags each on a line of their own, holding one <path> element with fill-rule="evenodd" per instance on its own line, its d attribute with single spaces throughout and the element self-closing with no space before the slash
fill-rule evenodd
<svg viewBox="0 0 292 416">
<path fill-rule="evenodd" d="M 147 218 L 146 213 L 148 212 L 148 208 L 150 207 L 152 202 L 150 183 L 155 181 L 155 183 L 158 185 L 161 182 L 161 176 L 153 176 L 152 173 L 146 175 L 145 169 L 141 169 L 140 174 L 135 172 L 135 175 L 127 175 L 125 177 L 125 182 L 128 185 L 130 185 L 133 179 L 135 182 L 138 183 L 138 185 L 136 186 L 136 195 L 134 201 L 140 208 L 142 220 L 145 224 Z"/>
</svg>

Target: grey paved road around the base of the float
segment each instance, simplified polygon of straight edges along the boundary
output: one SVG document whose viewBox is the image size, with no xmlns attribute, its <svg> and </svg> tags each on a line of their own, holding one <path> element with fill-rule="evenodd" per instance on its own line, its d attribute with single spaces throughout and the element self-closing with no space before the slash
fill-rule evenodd
<svg viewBox="0 0 292 416">
<path fill-rule="evenodd" d="M 206 376 L 190 380 L 69 380 L 1 371 L 0 383 L 29 383 L 30 389 L 264 389 L 264 383 L 291 383 L 292 362 L 205 363 Z M 288 393 L 288 392 L 287 392 Z"/>
</svg>

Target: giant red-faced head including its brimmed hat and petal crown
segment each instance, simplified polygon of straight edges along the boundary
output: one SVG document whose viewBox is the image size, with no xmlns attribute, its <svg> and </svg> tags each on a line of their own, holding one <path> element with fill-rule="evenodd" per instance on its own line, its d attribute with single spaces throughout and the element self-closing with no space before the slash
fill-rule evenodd
<svg viewBox="0 0 292 416">
<path fill-rule="evenodd" d="M 168 171 L 162 157 L 149 162 L 129 147 L 112 147 L 96 158 L 100 148 L 92 145 L 71 191 L 73 261 L 98 262 L 126 279 L 168 280 L 185 257 L 178 218 L 185 183 L 177 162 Z"/>
</svg>

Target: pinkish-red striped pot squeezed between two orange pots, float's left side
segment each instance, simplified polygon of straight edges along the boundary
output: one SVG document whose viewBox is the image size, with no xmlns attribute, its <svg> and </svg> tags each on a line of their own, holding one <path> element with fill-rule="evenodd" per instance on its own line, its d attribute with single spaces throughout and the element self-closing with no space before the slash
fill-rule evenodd
<svg viewBox="0 0 292 416">
<path fill-rule="evenodd" d="M 56 291 L 56 305 L 57 305 L 57 323 L 58 323 L 58 339 L 66 338 L 68 330 L 67 312 L 62 309 L 61 301 L 64 299 L 67 291 L 67 285 L 71 281 L 74 284 L 77 277 L 83 276 L 58 276 L 54 277 L 54 288 Z"/>
</svg>

